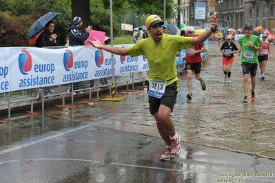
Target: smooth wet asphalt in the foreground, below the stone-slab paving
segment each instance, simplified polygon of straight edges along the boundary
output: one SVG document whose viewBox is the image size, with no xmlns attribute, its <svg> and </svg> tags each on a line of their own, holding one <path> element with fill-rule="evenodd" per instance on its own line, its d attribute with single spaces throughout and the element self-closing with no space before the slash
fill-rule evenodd
<svg viewBox="0 0 275 183">
<path fill-rule="evenodd" d="M 161 138 L 55 117 L 39 122 L 41 118 L 32 121 L 34 130 L 45 128 L 41 136 L 1 151 L 1 182 L 275 182 L 275 161 L 257 155 L 182 142 L 179 156 L 161 162 Z M 58 125 L 63 129 L 54 131 Z"/>
</svg>

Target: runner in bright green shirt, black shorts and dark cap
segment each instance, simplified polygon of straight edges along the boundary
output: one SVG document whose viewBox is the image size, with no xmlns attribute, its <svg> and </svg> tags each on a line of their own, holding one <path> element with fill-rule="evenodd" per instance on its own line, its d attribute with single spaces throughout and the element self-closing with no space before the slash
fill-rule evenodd
<svg viewBox="0 0 275 183">
<path fill-rule="evenodd" d="M 241 62 L 243 67 L 243 92 L 245 98 L 243 103 L 249 103 L 248 97 L 248 74 L 250 72 L 251 79 L 251 100 L 254 101 L 256 98 L 255 87 L 256 87 L 256 72 L 258 68 L 258 56 L 257 52 L 261 52 L 262 45 L 261 40 L 258 36 L 252 34 L 253 27 L 250 24 L 245 25 L 244 33 L 245 36 L 240 38 L 240 51 L 238 55 L 241 55 Z"/>
</svg>

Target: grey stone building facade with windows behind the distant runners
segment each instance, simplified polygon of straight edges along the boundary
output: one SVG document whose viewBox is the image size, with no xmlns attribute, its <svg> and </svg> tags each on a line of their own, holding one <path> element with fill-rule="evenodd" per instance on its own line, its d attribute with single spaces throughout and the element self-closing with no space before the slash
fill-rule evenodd
<svg viewBox="0 0 275 183">
<path fill-rule="evenodd" d="M 275 28 L 275 0 L 174 0 L 175 5 L 181 6 L 181 22 L 186 25 L 196 25 L 205 28 L 209 19 L 194 19 L 194 3 L 207 4 L 207 16 L 211 12 L 218 12 L 218 27 L 243 28 L 246 23 L 262 26 L 267 30 Z M 179 23 L 178 19 L 172 19 L 174 25 Z M 209 26 L 209 24 L 207 25 Z"/>
</svg>

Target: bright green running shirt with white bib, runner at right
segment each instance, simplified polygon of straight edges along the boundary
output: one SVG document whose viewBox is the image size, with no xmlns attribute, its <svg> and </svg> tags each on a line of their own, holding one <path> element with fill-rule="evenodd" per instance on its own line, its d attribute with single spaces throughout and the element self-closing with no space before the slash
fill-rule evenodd
<svg viewBox="0 0 275 183">
<path fill-rule="evenodd" d="M 240 45 L 243 47 L 241 61 L 243 63 L 258 63 L 257 51 L 249 46 L 247 41 L 251 41 L 253 45 L 257 47 L 261 46 L 261 40 L 258 36 L 252 34 L 249 39 L 247 39 L 246 36 L 242 36 L 240 38 Z"/>
</svg>

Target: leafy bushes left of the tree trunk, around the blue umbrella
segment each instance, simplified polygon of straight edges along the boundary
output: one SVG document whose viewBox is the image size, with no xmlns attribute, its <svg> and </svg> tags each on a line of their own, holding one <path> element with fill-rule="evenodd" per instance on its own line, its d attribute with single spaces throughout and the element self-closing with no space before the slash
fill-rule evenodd
<svg viewBox="0 0 275 183">
<path fill-rule="evenodd" d="M 0 44 L 2 46 L 27 45 L 28 29 L 37 19 L 48 12 L 61 13 L 56 23 L 54 23 L 54 33 L 57 34 L 57 42 L 59 45 L 65 45 L 65 36 L 68 34 L 68 28 L 70 26 L 70 0 L 0 0 L 0 4 L 1 10 L 8 11 L 8 13 L 4 13 L 5 16 L 3 16 L 3 21 L 1 21 L 1 25 L 5 27 L 5 30 L 3 30 L 5 32 L 5 37 L 1 39 L 8 41 L 9 39 L 14 40 L 14 36 L 17 38 L 17 43 L 5 41 L 5 43 L 7 43 L 5 45 L 1 41 Z M 0 36 L 3 36 L 3 34 Z"/>
</svg>

